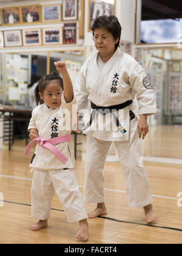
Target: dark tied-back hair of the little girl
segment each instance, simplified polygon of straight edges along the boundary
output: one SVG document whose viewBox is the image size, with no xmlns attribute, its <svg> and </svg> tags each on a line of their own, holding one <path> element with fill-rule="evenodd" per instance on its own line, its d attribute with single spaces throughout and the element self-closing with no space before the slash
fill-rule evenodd
<svg viewBox="0 0 182 256">
<path fill-rule="evenodd" d="M 34 90 L 36 105 L 44 103 L 44 101 L 41 100 L 39 93 L 43 93 L 47 85 L 50 84 L 50 82 L 52 82 L 53 80 L 58 82 L 62 90 L 64 90 L 62 77 L 60 77 L 58 73 L 55 72 L 47 74 L 46 76 L 42 76 L 41 80 L 39 81 L 39 84 L 36 86 Z"/>
</svg>

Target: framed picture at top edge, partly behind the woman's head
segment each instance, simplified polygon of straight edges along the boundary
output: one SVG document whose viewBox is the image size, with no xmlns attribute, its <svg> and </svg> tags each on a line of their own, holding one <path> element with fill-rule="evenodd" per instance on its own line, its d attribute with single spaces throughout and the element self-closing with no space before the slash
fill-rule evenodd
<svg viewBox="0 0 182 256">
<path fill-rule="evenodd" d="M 101 1 L 89 0 L 88 1 L 88 31 L 91 32 L 93 21 L 102 15 L 115 15 L 115 0 Z"/>
</svg>

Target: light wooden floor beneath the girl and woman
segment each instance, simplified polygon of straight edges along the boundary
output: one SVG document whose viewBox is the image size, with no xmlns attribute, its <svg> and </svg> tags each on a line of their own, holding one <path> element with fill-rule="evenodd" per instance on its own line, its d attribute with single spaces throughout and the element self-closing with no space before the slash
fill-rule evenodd
<svg viewBox="0 0 182 256">
<path fill-rule="evenodd" d="M 68 224 L 58 197 L 54 196 L 49 227 L 32 232 L 30 188 L 33 174 L 30 157 L 22 152 L 0 150 L 0 243 L 81 244 L 75 238 L 78 223 Z M 119 163 L 106 163 L 105 192 L 108 214 L 89 219 L 88 244 L 182 243 L 182 207 L 177 194 L 182 192 L 182 166 L 146 163 L 158 221 L 146 225 L 143 209 L 127 205 L 124 176 Z M 83 193 L 84 162 L 76 160 L 76 177 Z M 3 197 L 2 197 L 3 196 Z M 182 197 L 182 196 L 181 196 Z M 95 205 L 86 204 L 88 211 Z"/>
</svg>

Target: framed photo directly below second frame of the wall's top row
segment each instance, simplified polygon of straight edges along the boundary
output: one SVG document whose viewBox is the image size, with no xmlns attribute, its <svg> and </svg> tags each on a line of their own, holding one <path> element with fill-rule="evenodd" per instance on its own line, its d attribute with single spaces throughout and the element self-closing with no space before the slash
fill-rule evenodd
<svg viewBox="0 0 182 256">
<path fill-rule="evenodd" d="M 24 29 L 22 37 L 24 46 L 42 44 L 41 29 Z"/>
</svg>

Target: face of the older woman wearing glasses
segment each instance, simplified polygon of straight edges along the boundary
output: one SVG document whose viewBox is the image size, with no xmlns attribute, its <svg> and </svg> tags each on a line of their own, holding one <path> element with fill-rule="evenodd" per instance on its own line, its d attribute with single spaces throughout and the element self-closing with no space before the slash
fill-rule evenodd
<svg viewBox="0 0 182 256">
<path fill-rule="evenodd" d="M 93 34 L 95 48 L 101 55 L 113 54 L 115 52 L 115 40 L 113 35 L 105 28 L 95 29 Z"/>
</svg>

